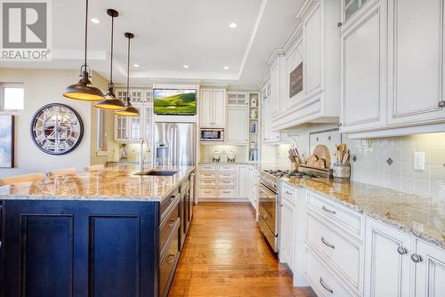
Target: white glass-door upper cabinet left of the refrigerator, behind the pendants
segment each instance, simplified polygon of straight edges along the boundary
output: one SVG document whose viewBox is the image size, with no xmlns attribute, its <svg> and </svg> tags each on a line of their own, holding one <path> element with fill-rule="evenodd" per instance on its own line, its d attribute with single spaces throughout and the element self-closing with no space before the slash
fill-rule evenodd
<svg viewBox="0 0 445 297">
<path fill-rule="evenodd" d="M 131 102 L 140 116 L 114 116 L 114 140 L 117 142 L 139 142 L 142 137 L 150 140 L 153 130 L 152 91 L 130 90 Z M 126 90 L 116 90 L 117 99 L 126 100 Z"/>
</svg>

